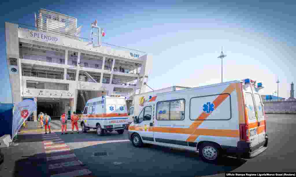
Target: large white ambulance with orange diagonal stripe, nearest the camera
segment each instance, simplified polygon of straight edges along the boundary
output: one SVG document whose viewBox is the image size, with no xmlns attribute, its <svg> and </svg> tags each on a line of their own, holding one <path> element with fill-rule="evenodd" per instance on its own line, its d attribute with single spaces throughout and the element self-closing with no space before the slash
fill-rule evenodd
<svg viewBox="0 0 296 177">
<path fill-rule="evenodd" d="M 244 79 L 152 95 L 128 137 L 136 147 L 149 143 L 198 151 L 210 163 L 224 155 L 255 157 L 268 143 L 262 88 Z"/>
</svg>

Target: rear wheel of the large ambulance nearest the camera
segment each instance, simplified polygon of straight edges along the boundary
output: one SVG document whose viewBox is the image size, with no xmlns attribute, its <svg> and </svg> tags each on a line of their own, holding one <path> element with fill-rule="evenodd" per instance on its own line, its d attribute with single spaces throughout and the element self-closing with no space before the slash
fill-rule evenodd
<svg viewBox="0 0 296 177">
<path fill-rule="evenodd" d="M 207 163 L 218 163 L 221 150 L 214 143 L 202 143 L 199 147 L 200 158 Z"/>
</svg>

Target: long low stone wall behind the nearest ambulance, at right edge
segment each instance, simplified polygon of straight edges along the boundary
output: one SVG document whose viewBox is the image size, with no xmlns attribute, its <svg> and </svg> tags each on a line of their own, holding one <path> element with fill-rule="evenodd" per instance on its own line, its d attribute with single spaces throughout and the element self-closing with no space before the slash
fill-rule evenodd
<svg viewBox="0 0 296 177">
<path fill-rule="evenodd" d="M 296 100 L 263 101 L 265 113 L 296 114 Z"/>
</svg>

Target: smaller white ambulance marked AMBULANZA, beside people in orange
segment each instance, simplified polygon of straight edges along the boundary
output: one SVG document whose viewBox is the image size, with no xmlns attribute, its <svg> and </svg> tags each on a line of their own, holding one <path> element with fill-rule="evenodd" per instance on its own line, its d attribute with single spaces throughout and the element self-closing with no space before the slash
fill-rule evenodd
<svg viewBox="0 0 296 177">
<path fill-rule="evenodd" d="M 83 132 L 96 129 L 98 136 L 103 136 L 104 131 L 116 130 L 123 134 L 128 124 L 128 112 L 125 97 L 120 95 L 102 96 L 86 102 L 81 127 Z"/>
</svg>

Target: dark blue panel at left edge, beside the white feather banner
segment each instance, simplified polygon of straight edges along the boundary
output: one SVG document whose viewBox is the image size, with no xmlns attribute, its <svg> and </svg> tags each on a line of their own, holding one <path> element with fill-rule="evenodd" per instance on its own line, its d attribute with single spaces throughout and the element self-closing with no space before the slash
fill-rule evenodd
<svg viewBox="0 0 296 177">
<path fill-rule="evenodd" d="M 0 137 L 5 134 L 10 134 L 12 137 L 12 117 L 13 104 L 0 103 Z"/>
</svg>

